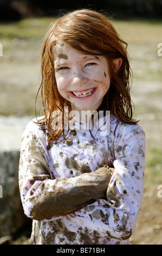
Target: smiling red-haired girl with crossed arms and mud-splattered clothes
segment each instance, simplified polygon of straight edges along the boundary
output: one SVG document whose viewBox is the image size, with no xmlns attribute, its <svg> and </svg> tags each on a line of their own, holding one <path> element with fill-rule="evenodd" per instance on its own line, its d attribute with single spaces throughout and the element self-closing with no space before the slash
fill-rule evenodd
<svg viewBox="0 0 162 256">
<path fill-rule="evenodd" d="M 23 133 L 19 172 L 33 244 L 129 243 L 145 135 L 132 118 L 126 47 L 106 16 L 87 9 L 60 17 L 46 35 L 44 115 Z"/>
</svg>

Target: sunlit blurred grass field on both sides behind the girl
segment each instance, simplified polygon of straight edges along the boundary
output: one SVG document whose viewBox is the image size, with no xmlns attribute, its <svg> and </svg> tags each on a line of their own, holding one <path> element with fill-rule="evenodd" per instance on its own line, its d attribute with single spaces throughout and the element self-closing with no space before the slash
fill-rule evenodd
<svg viewBox="0 0 162 256">
<path fill-rule="evenodd" d="M 40 84 L 41 44 L 55 19 L 31 18 L 0 25 L 0 43 L 3 45 L 0 114 L 34 115 L 35 96 Z M 140 125 L 146 133 L 145 184 L 162 184 L 162 57 L 157 54 L 157 46 L 162 42 L 162 22 L 114 20 L 113 23 L 121 38 L 128 42 L 132 59 L 134 117 L 141 120 Z M 39 104 L 38 109 L 41 109 Z"/>
</svg>

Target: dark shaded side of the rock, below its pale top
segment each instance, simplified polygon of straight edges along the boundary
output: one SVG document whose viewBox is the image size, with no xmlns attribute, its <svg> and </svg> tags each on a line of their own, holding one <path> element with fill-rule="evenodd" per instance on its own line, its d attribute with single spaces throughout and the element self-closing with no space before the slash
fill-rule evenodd
<svg viewBox="0 0 162 256">
<path fill-rule="evenodd" d="M 27 220 L 18 187 L 18 162 L 20 151 L 0 151 L 0 237 L 14 234 Z"/>
</svg>

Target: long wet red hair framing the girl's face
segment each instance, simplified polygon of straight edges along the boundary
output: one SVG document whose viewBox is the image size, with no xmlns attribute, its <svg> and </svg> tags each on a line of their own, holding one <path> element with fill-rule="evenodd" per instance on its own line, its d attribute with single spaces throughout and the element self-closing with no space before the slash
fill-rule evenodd
<svg viewBox="0 0 162 256">
<path fill-rule="evenodd" d="M 120 38 L 111 19 L 106 15 L 88 9 L 75 10 L 57 19 L 50 26 L 43 42 L 42 81 L 38 92 L 41 90 L 44 118 L 39 124 L 46 125 L 48 141 L 58 141 L 61 135 L 66 139 L 64 127 L 53 130 L 53 112 L 59 110 L 63 113 L 64 106 L 71 110 L 70 102 L 59 94 L 55 80 L 53 47 L 62 41 L 82 52 L 95 55 L 99 52 L 98 55 L 107 57 L 111 84 L 98 110 L 109 110 L 119 121 L 137 124 L 138 121 L 132 118 L 132 101 L 129 94 L 132 72 L 127 43 Z M 88 50 L 84 50 L 85 48 Z M 118 72 L 113 65 L 113 60 L 117 58 L 122 58 Z"/>
</svg>

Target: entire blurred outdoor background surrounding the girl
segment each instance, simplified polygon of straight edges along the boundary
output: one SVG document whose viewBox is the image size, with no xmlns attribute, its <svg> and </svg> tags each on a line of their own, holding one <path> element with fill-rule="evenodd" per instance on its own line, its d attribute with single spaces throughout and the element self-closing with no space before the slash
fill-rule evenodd
<svg viewBox="0 0 162 256">
<path fill-rule="evenodd" d="M 35 117 L 44 34 L 58 15 L 79 8 L 105 10 L 128 43 L 134 118 L 146 133 L 144 197 L 130 241 L 162 244 L 161 0 L 0 0 L 0 244 L 30 244 L 31 220 L 18 190 L 21 136 Z M 36 109 L 41 114 L 40 99 Z"/>
</svg>

